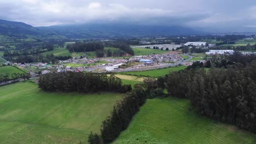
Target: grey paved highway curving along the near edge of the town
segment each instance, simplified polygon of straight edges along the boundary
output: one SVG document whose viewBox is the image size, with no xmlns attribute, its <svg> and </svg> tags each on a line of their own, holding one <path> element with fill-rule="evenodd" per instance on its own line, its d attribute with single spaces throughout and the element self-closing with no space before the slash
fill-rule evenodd
<svg viewBox="0 0 256 144">
<path fill-rule="evenodd" d="M 113 72 L 126 72 L 126 71 L 144 71 L 144 70 L 153 70 L 153 69 L 163 69 L 163 68 L 169 68 L 169 67 L 176 67 L 179 64 L 184 64 L 188 61 L 190 61 L 193 57 L 190 55 L 185 54 L 185 56 L 188 56 L 188 59 L 176 62 L 176 63 L 172 63 L 172 64 L 166 64 L 166 65 L 160 65 L 157 67 L 149 67 L 149 68 L 137 68 L 137 69 L 118 69 L 118 70 L 113 70 Z"/>
</svg>

